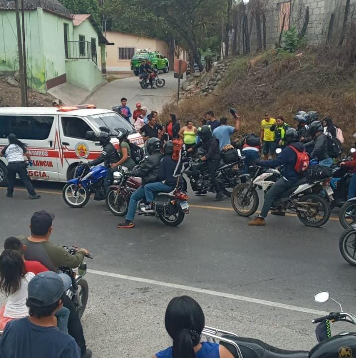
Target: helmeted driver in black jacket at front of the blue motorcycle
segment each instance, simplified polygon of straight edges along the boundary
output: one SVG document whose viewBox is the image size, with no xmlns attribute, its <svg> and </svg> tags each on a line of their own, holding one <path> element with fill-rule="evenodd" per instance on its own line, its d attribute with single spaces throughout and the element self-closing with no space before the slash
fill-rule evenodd
<svg viewBox="0 0 356 358">
<path fill-rule="evenodd" d="M 108 131 L 102 127 L 100 129 L 101 132 L 95 133 L 95 137 L 99 140 L 100 145 L 103 147 L 103 151 L 98 158 L 89 161 L 88 165 L 94 166 L 104 162 L 105 166 L 110 168 L 104 180 L 104 188 L 105 191 L 107 191 L 113 182 L 113 174 L 117 168 L 116 163 L 120 160 L 120 156 L 114 145 L 110 142 L 110 135 Z M 112 164 L 115 164 L 116 166 L 112 166 Z"/>
</svg>

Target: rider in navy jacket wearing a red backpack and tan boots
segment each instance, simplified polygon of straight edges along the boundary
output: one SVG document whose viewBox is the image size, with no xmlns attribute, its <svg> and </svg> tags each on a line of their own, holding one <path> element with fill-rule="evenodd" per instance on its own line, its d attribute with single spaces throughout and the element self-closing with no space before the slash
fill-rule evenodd
<svg viewBox="0 0 356 358">
<path fill-rule="evenodd" d="M 297 173 L 294 166 L 297 161 L 296 152 L 304 152 L 305 146 L 303 143 L 299 142 L 299 134 L 294 128 L 290 128 L 285 132 L 285 141 L 287 146 L 276 159 L 258 160 L 256 162 L 257 165 L 269 168 L 283 166 L 283 169 L 281 178 L 278 179 L 266 193 L 261 214 L 248 223 L 251 226 L 264 226 L 266 224 L 265 218 L 267 217 L 273 202 L 280 198 L 286 190 L 292 188 L 295 183 L 302 178 L 302 174 Z M 271 214 L 284 216 L 285 212 L 274 211 Z"/>
</svg>

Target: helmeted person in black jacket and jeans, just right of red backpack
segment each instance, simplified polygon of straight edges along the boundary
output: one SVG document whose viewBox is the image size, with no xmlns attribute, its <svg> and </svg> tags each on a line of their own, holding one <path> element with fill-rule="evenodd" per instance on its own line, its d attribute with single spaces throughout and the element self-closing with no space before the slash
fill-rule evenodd
<svg viewBox="0 0 356 358">
<path fill-rule="evenodd" d="M 310 158 L 319 162 L 319 165 L 330 167 L 334 160 L 328 151 L 328 138 L 324 134 L 323 123 L 314 121 L 309 126 L 309 135 L 313 140 L 305 144 L 305 147 L 310 151 Z"/>
</svg>

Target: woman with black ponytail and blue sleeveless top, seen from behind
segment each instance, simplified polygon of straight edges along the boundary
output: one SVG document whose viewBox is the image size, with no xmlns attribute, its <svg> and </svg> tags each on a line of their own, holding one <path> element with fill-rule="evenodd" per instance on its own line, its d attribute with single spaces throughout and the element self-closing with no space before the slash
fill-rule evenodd
<svg viewBox="0 0 356 358">
<path fill-rule="evenodd" d="M 164 324 L 173 346 L 156 353 L 153 358 L 233 358 L 225 347 L 200 341 L 205 316 L 192 297 L 174 297 L 168 303 Z"/>
</svg>

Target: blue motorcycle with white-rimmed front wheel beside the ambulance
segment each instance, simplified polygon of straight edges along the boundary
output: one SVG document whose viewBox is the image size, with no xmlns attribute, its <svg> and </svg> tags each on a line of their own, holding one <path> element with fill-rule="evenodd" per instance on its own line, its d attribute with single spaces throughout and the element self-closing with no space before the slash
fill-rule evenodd
<svg viewBox="0 0 356 358">
<path fill-rule="evenodd" d="M 90 168 L 88 164 L 80 162 L 75 170 L 73 179 L 63 188 L 63 200 L 72 208 L 82 208 L 94 193 L 94 200 L 105 199 L 104 179 L 108 168 L 98 165 Z"/>
</svg>

